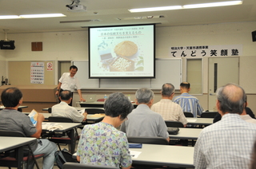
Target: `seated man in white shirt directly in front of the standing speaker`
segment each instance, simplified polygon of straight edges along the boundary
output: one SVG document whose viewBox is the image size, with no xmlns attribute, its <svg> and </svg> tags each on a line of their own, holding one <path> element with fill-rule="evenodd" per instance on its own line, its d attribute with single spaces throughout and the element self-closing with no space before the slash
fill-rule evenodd
<svg viewBox="0 0 256 169">
<path fill-rule="evenodd" d="M 72 93 L 69 90 L 63 90 L 60 93 L 59 99 L 61 103 L 54 105 L 51 108 L 51 116 L 63 116 L 72 119 L 74 122 L 82 122 L 86 120 L 87 113 L 81 114 L 74 107 L 71 107 Z"/>
</svg>

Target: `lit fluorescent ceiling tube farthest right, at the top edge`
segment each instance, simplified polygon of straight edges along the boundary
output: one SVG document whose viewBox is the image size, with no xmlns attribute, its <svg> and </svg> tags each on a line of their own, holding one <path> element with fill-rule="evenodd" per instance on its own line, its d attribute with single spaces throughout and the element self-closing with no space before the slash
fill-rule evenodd
<svg viewBox="0 0 256 169">
<path fill-rule="evenodd" d="M 216 6 L 234 6 L 240 5 L 242 1 L 228 1 L 228 2 L 212 2 L 212 3 L 201 3 L 183 6 L 184 9 L 190 8 L 206 8 L 206 7 L 216 7 Z"/>
</svg>

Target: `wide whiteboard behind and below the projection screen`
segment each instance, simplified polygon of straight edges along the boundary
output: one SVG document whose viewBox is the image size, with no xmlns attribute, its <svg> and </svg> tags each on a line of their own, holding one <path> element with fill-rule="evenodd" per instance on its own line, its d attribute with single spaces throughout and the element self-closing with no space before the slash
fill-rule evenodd
<svg viewBox="0 0 256 169">
<path fill-rule="evenodd" d="M 171 83 L 178 88 L 182 82 L 182 59 L 156 59 L 155 78 L 89 79 L 88 61 L 73 61 L 82 88 L 162 88 Z"/>
</svg>

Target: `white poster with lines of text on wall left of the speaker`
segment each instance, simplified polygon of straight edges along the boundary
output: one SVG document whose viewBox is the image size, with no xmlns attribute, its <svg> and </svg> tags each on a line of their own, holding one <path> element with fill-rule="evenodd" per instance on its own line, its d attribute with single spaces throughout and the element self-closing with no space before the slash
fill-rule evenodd
<svg viewBox="0 0 256 169">
<path fill-rule="evenodd" d="M 30 83 L 44 83 L 44 62 L 31 62 L 30 64 Z"/>
</svg>

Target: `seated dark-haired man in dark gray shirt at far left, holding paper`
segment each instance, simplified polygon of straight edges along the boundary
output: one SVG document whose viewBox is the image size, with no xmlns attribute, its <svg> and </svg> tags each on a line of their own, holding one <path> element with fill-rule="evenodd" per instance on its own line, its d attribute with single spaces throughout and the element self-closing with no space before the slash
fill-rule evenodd
<svg viewBox="0 0 256 169">
<path fill-rule="evenodd" d="M 27 137 L 40 138 L 44 116 L 38 113 L 38 123 L 32 124 L 30 117 L 18 112 L 22 104 L 22 92 L 18 88 L 6 88 L 1 95 L 2 104 L 6 107 L 0 111 L 0 130 L 22 132 Z M 55 143 L 40 139 L 30 144 L 34 155 L 44 154 L 43 168 L 54 167 L 54 153 L 57 151 Z M 29 168 L 34 168 L 34 160 L 30 160 Z"/>
</svg>

